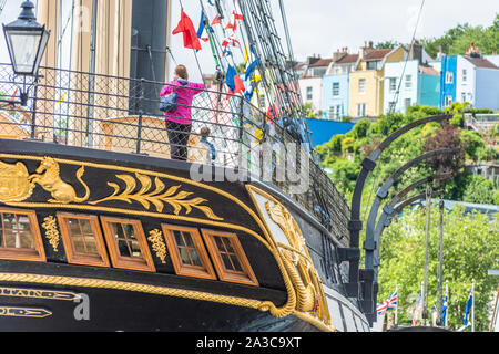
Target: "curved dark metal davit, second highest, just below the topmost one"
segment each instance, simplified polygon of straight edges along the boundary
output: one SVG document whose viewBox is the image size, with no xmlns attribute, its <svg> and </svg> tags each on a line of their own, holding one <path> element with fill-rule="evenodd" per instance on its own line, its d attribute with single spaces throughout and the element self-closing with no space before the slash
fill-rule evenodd
<svg viewBox="0 0 499 354">
<path fill-rule="evenodd" d="M 381 206 L 383 200 L 386 199 L 386 197 L 388 196 L 388 190 L 391 188 L 394 183 L 413 166 L 424 160 L 427 160 L 431 157 L 440 155 L 452 155 L 459 153 L 459 150 L 460 150 L 459 148 L 446 148 L 440 150 L 434 150 L 411 159 L 410 162 L 401 166 L 399 169 L 397 169 L 376 192 L 376 198 L 373 202 L 373 206 L 370 207 L 369 218 L 366 223 L 366 240 L 364 242 L 365 269 L 363 269 L 360 272 L 360 274 L 363 274 L 360 279 L 363 283 L 361 303 L 366 316 L 368 316 L 369 321 L 370 320 L 374 321 L 376 315 L 375 306 L 378 287 L 375 281 L 376 273 L 374 269 L 374 252 L 377 249 L 377 242 L 375 240 L 375 227 L 376 227 L 376 217 L 378 216 L 378 210 L 379 207 Z"/>
</svg>

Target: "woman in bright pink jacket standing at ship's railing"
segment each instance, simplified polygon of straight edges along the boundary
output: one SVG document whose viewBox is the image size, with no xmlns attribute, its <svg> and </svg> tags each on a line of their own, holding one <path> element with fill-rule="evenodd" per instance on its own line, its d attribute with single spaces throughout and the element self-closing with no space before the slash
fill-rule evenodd
<svg viewBox="0 0 499 354">
<path fill-rule="evenodd" d="M 172 159 L 187 159 L 187 142 L 192 129 L 192 100 L 204 90 L 204 84 L 189 82 L 187 69 L 184 65 L 175 67 L 173 81 L 161 90 L 160 96 L 176 92 L 179 106 L 175 111 L 165 112 L 164 119 L 170 140 Z"/>
</svg>

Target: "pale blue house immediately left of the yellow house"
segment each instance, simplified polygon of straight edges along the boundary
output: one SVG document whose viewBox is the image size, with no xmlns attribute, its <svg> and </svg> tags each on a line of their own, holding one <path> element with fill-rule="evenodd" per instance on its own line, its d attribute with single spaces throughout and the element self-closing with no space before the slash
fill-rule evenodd
<svg viewBox="0 0 499 354">
<path fill-rule="evenodd" d="M 336 121 L 348 115 L 349 73 L 357 61 L 358 54 L 348 54 L 346 48 L 333 54 L 333 62 L 323 77 L 324 119 Z"/>
</svg>

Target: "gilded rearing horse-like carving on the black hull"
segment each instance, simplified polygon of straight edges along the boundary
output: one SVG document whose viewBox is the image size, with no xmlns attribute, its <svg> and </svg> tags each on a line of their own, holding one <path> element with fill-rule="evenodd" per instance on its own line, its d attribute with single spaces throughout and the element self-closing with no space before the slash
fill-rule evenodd
<svg viewBox="0 0 499 354">
<path fill-rule="evenodd" d="M 80 167 L 80 169 L 77 171 L 77 179 L 83 185 L 85 189 L 85 195 L 81 198 L 77 196 L 77 192 L 71 185 L 61 179 L 59 164 L 52 157 L 44 157 L 37 169 L 38 175 L 31 175 L 29 177 L 29 180 L 32 184 L 39 184 L 44 190 L 52 195 L 52 199 L 49 199 L 49 202 L 84 202 L 90 197 L 89 186 L 86 186 L 86 184 L 81 179 L 84 171 L 84 166 Z"/>
</svg>

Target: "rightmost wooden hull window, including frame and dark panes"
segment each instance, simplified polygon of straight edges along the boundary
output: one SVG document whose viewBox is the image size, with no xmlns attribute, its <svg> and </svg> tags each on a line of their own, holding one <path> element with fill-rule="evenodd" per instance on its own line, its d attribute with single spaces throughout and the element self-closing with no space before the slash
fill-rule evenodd
<svg viewBox="0 0 499 354">
<path fill-rule="evenodd" d="M 201 230 L 216 272 L 222 281 L 258 285 L 235 233 Z"/>
</svg>

